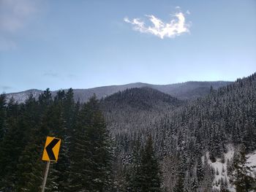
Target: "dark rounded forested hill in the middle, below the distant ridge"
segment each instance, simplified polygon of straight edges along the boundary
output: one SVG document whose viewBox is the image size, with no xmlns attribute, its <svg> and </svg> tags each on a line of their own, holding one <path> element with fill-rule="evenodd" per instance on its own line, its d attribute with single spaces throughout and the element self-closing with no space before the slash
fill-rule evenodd
<svg viewBox="0 0 256 192">
<path fill-rule="evenodd" d="M 146 130 L 152 120 L 185 104 L 153 88 L 129 88 L 102 99 L 102 111 L 112 134 Z"/>
</svg>

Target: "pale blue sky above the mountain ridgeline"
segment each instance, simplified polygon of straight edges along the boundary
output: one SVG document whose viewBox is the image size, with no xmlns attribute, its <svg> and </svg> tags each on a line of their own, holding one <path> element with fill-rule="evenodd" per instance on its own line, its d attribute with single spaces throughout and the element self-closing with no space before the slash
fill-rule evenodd
<svg viewBox="0 0 256 192">
<path fill-rule="evenodd" d="M 0 0 L 0 93 L 236 80 L 256 72 L 255 18 L 255 0 Z"/>
</svg>

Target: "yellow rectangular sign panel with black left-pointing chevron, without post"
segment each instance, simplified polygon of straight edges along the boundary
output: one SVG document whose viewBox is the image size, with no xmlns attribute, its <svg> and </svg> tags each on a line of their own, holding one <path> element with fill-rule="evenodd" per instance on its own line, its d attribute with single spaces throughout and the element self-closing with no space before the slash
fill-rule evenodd
<svg viewBox="0 0 256 192">
<path fill-rule="evenodd" d="M 47 137 L 45 142 L 45 150 L 42 154 L 42 161 L 58 161 L 60 146 L 61 139 Z"/>
</svg>

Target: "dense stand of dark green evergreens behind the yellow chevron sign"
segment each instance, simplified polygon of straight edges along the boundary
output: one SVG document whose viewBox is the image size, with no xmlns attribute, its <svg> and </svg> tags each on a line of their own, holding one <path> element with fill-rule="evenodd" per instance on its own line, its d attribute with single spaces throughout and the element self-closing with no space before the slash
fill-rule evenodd
<svg viewBox="0 0 256 192">
<path fill-rule="evenodd" d="M 46 191 L 112 191 L 113 150 L 99 101 L 75 103 L 72 89 L 24 104 L 0 97 L 0 191 L 40 191 L 47 136 L 61 138 Z"/>
</svg>

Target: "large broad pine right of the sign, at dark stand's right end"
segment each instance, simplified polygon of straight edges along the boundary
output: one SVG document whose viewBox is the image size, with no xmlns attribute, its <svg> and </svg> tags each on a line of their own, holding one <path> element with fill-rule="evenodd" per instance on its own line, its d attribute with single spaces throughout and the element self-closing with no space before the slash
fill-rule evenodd
<svg viewBox="0 0 256 192">
<path fill-rule="evenodd" d="M 74 137 L 70 190 L 110 191 L 112 147 L 96 96 L 83 105 Z"/>
</svg>

